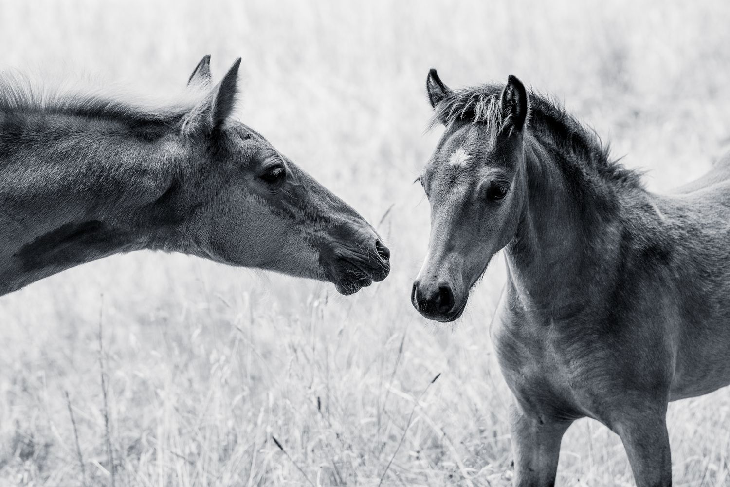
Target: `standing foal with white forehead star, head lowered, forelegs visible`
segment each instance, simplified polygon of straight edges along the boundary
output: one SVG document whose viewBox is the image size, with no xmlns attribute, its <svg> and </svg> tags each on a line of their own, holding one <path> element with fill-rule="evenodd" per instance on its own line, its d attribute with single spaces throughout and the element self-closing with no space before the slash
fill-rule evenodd
<svg viewBox="0 0 730 487">
<path fill-rule="evenodd" d="M 431 238 L 412 303 L 453 321 L 504 248 L 491 329 L 515 395 L 515 485 L 552 486 L 577 418 L 618 433 L 639 487 L 669 486 L 667 402 L 730 383 L 730 158 L 658 195 L 510 76 L 427 80 L 445 133 L 421 177 Z"/>
</svg>

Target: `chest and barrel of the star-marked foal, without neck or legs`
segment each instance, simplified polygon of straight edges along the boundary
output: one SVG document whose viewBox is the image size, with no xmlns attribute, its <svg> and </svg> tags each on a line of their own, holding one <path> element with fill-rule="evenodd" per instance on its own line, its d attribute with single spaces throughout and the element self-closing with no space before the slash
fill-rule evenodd
<svg viewBox="0 0 730 487">
<path fill-rule="evenodd" d="M 505 374 L 516 372 L 509 382 L 527 386 L 520 395 L 539 396 L 534 388 L 545 384 L 623 391 L 627 380 L 648 377 L 636 387 L 664 389 L 675 400 L 730 383 L 730 329 L 723 333 L 730 326 L 730 211 L 715 197 L 730 188 L 719 186 L 682 197 L 637 192 L 623 202 L 604 245 L 568 250 L 581 266 L 596 262 L 581 277 L 566 275 L 565 266 L 550 275 L 531 272 L 515 255 L 519 250 L 507 248 L 502 319 L 492 333 Z M 533 280 L 541 283 L 531 286 Z M 615 350 L 636 353 L 615 356 Z M 623 385 L 606 385 L 615 381 Z M 573 403 L 574 415 L 610 423 L 600 411 L 607 399 L 601 394 L 592 394 L 599 404 L 558 396 Z"/>
</svg>

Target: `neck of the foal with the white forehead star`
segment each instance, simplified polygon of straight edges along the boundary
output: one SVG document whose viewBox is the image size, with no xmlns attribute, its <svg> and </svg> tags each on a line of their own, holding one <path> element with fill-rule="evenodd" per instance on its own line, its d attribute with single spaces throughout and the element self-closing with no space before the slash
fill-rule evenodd
<svg viewBox="0 0 730 487">
<path fill-rule="evenodd" d="M 566 174 L 577 157 L 526 137 L 526 197 L 506 248 L 510 282 L 532 309 L 551 318 L 575 315 L 591 299 L 585 286 L 610 281 L 621 234 L 607 188 L 595 191 L 595 181 L 576 182 L 575 170 Z"/>
</svg>

